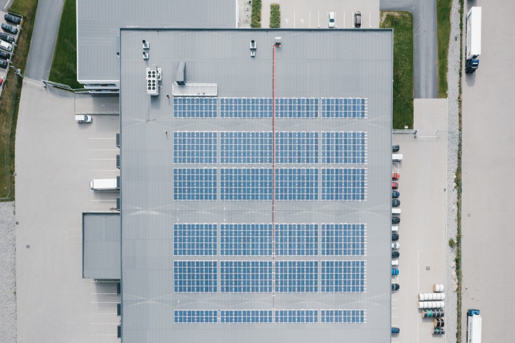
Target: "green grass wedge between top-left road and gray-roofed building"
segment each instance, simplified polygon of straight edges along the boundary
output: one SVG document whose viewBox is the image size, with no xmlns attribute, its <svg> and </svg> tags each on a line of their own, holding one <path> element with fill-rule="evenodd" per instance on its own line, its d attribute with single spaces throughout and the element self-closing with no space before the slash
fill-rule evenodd
<svg viewBox="0 0 515 343">
<path fill-rule="evenodd" d="M 77 30 L 76 0 L 65 0 L 61 24 L 57 34 L 54 60 L 50 69 L 50 81 L 67 84 L 73 89 L 83 88 L 77 82 Z"/>
</svg>

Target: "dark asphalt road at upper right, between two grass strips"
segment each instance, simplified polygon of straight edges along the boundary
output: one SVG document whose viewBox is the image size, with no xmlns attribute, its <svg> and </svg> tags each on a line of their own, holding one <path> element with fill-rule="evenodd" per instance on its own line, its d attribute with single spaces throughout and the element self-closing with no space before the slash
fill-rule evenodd
<svg viewBox="0 0 515 343">
<path fill-rule="evenodd" d="M 381 0 L 382 11 L 413 13 L 415 98 L 438 97 L 436 0 Z"/>
</svg>

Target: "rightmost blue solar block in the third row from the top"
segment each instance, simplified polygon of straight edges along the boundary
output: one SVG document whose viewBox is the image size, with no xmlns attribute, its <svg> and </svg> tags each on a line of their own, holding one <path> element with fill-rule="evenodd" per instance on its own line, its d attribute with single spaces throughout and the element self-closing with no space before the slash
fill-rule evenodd
<svg viewBox="0 0 515 343">
<path fill-rule="evenodd" d="M 365 200 L 365 168 L 322 168 L 322 200 Z"/>
</svg>

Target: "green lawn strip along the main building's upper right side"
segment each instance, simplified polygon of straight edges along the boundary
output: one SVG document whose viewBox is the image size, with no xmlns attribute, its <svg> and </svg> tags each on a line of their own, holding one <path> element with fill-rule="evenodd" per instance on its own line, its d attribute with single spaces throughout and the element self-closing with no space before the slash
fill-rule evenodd
<svg viewBox="0 0 515 343">
<path fill-rule="evenodd" d="M 413 129 L 413 15 L 381 11 L 381 28 L 393 28 L 393 128 Z"/>
</svg>

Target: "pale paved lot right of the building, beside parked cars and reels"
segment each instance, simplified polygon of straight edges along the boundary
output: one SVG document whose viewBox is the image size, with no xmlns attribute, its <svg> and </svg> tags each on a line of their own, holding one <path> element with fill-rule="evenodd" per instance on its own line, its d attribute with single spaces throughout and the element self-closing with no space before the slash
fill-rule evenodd
<svg viewBox="0 0 515 343">
<path fill-rule="evenodd" d="M 432 293 L 433 284 L 445 284 L 445 170 L 447 161 L 447 100 L 415 99 L 417 136 L 394 134 L 401 163 L 400 173 L 399 291 L 392 292 L 392 327 L 400 328 L 393 343 L 443 342 L 433 335 L 433 319 L 422 319 L 417 308 L 419 293 Z M 436 132 L 438 131 L 438 132 Z"/>
</svg>

